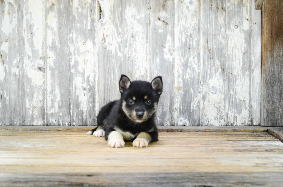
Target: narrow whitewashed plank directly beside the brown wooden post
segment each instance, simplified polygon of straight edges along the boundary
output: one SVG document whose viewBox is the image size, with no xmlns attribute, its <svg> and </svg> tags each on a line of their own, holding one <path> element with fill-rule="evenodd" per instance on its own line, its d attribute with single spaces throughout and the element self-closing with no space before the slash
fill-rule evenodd
<svg viewBox="0 0 283 187">
<path fill-rule="evenodd" d="M 256 10 L 252 1 L 252 70 L 251 70 L 251 111 L 252 125 L 260 125 L 261 100 L 261 11 Z"/>
</svg>

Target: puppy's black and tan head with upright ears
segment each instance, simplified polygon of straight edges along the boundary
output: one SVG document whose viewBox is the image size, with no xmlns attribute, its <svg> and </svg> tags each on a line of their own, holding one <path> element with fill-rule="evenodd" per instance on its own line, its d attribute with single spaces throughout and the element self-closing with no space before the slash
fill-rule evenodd
<svg viewBox="0 0 283 187">
<path fill-rule="evenodd" d="M 137 123 L 148 120 L 157 110 L 162 86 L 160 76 L 149 83 L 146 81 L 131 82 L 126 75 L 121 75 L 119 89 L 122 109 L 128 118 Z"/>
</svg>

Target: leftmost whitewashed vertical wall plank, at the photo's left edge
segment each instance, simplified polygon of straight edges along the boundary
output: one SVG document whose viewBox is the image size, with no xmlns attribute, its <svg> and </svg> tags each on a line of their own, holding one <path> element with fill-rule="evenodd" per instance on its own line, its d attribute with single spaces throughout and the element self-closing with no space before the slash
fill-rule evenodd
<svg viewBox="0 0 283 187">
<path fill-rule="evenodd" d="M 0 1 L 0 125 L 21 124 L 19 20 L 19 1 Z"/>
</svg>

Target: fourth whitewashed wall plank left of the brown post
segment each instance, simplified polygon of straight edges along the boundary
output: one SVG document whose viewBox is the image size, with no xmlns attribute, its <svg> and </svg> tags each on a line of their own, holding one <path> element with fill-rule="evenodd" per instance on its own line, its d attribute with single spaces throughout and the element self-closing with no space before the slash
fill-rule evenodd
<svg viewBox="0 0 283 187">
<path fill-rule="evenodd" d="M 178 126 L 198 126 L 200 125 L 201 2 L 175 0 L 174 12 L 174 120 Z M 166 89 L 168 88 L 164 90 Z"/>
</svg>

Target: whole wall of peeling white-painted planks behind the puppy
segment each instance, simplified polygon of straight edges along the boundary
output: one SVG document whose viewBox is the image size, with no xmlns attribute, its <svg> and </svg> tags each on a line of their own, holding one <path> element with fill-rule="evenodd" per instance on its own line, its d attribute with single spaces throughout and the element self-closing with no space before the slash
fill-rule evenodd
<svg viewBox="0 0 283 187">
<path fill-rule="evenodd" d="M 258 125 L 254 0 L 0 0 L 0 125 L 94 125 L 131 80 L 163 77 L 159 125 Z"/>
</svg>

